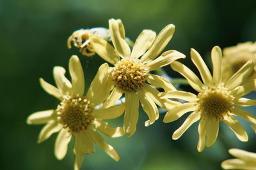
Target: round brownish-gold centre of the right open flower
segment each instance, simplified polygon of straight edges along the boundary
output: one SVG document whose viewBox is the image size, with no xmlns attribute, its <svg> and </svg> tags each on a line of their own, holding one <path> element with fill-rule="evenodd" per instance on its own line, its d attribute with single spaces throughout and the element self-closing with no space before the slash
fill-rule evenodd
<svg viewBox="0 0 256 170">
<path fill-rule="evenodd" d="M 233 108 L 234 97 L 230 95 L 223 84 L 218 87 L 207 87 L 197 96 L 198 111 L 201 117 L 223 120 L 224 115 L 229 115 Z"/>
</svg>

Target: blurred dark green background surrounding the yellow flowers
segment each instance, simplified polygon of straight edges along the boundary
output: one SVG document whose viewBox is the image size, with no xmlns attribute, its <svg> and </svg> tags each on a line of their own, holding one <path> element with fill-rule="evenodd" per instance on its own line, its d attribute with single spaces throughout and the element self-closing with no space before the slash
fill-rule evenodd
<svg viewBox="0 0 256 170">
<path fill-rule="evenodd" d="M 104 62 L 100 57 L 84 57 L 74 47 L 68 50 L 67 38 L 73 31 L 108 27 L 109 18 L 120 18 L 126 36 L 135 40 L 143 29 L 159 32 L 165 25 L 174 24 L 176 31 L 166 50 L 186 54 L 187 59 L 182 62 L 196 70 L 189 59 L 190 48 L 209 60 L 206 57 L 214 45 L 224 48 L 256 40 L 255 6 L 254 0 L 0 1 L 0 169 L 73 168 L 72 143 L 65 159 L 59 161 L 54 157 L 56 134 L 37 144 L 43 126 L 26 124 L 31 113 L 56 108 L 58 104 L 57 99 L 42 90 L 40 77 L 54 84 L 52 68 L 67 69 L 68 59 L 76 54 L 81 59 L 88 87 Z M 170 67 L 164 69 L 179 76 Z M 250 97 L 255 99 L 255 94 Z M 255 108 L 248 110 L 256 115 Z M 256 135 L 246 121 L 241 122 L 248 132 L 248 143 L 240 142 L 222 123 L 214 146 L 198 153 L 198 122 L 173 141 L 172 133 L 187 116 L 171 124 L 164 124 L 163 116 L 150 127 L 144 127 L 147 117 L 141 111 L 133 136 L 106 139 L 118 151 L 120 162 L 95 146 L 96 153 L 84 157 L 81 169 L 221 169 L 220 163 L 230 158 L 228 148 L 256 152 Z M 122 125 L 122 117 L 111 123 Z"/>
</svg>

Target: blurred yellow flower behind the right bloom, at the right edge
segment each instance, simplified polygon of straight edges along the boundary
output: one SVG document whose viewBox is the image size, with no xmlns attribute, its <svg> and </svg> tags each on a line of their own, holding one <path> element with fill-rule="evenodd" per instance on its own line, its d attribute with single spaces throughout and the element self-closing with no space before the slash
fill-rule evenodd
<svg viewBox="0 0 256 170">
<path fill-rule="evenodd" d="M 223 49 L 223 81 L 227 81 L 232 74 L 236 73 L 248 60 L 254 63 L 252 74 L 249 80 L 256 78 L 256 42 L 250 41 L 239 43 L 236 46 L 231 46 Z"/>
</svg>

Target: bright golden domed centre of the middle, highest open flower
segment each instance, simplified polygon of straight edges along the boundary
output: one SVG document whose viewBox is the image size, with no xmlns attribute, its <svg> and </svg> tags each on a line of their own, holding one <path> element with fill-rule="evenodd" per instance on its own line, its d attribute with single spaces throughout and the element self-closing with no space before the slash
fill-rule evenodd
<svg viewBox="0 0 256 170">
<path fill-rule="evenodd" d="M 139 59 L 127 57 L 116 63 L 112 76 L 116 87 L 123 92 L 134 92 L 145 85 L 148 72 Z"/>
</svg>

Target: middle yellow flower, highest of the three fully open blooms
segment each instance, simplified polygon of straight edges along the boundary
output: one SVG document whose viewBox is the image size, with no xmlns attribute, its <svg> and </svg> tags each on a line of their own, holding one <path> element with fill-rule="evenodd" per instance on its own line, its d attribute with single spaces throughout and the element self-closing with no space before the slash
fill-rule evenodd
<svg viewBox="0 0 256 170">
<path fill-rule="evenodd" d="M 109 20 L 110 37 L 115 48 L 99 36 L 92 35 L 89 38 L 95 52 L 115 65 L 109 69 L 113 90 L 103 107 L 108 108 L 115 104 L 122 94 L 125 94 L 124 130 L 127 136 L 136 131 L 140 103 L 149 117 L 145 122 L 146 126 L 159 118 L 156 104 L 162 108 L 177 105 L 177 102 L 159 99 L 159 91 L 154 88 L 176 90 L 175 87 L 165 78 L 149 73 L 172 63 L 173 60 L 185 57 L 175 50 L 164 52 L 157 57 L 172 39 L 174 30 L 174 25 L 167 25 L 157 37 L 154 31 L 142 31 L 134 43 L 132 52 L 125 41 L 124 25 L 121 20 Z"/>
</svg>

